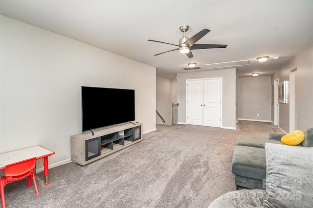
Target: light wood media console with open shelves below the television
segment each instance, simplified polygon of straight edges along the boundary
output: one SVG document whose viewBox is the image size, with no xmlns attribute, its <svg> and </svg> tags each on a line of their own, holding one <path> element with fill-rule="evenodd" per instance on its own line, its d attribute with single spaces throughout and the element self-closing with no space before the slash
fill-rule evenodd
<svg viewBox="0 0 313 208">
<path fill-rule="evenodd" d="M 70 136 L 71 161 L 82 166 L 142 141 L 142 123 L 115 125 Z"/>
</svg>

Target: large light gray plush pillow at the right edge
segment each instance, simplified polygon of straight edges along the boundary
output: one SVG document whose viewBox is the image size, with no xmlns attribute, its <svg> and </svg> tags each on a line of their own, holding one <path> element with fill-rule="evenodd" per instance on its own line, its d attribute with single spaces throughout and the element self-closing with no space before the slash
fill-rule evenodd
<svg viewBox="0 0 313 208">
<path fill-rule="evenodd" d="M 265 208 L 312 208 L 313 148 L 265 143 Z"/>
</svg>

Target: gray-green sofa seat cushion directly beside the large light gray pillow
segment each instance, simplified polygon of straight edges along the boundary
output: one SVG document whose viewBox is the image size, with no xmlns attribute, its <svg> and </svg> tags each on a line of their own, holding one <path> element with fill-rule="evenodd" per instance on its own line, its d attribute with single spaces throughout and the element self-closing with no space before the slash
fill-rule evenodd
<svg viewBox="0 0 313 208">
<path fill-rule="evenodd" d="M 266 176 L 265 149 L 235 146 L 231 168 L 235 175 L 262 181 Z"/>
</svg>

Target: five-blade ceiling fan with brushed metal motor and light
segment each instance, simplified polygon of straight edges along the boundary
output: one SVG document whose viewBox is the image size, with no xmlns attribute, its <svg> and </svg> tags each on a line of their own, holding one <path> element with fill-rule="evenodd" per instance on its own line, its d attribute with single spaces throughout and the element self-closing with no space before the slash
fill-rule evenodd
<svg viewBox="0 0 313 208">
<path fill-rule="evenodd" d="M 189 29 L 188 25 L 181 25 L 179 27 L 179 30 L 181 32 L 183 32 L 183 34 L 184 34 L 183 37 L 179 39 L 179 45 L 149 39 L 148 41 L 160 42 L 160 43 L 175 45 L 175 46 L 179 47 L 179 48 L 176 48 L 176 49 L 173 49 L 170 51 L 165 51 L 163 53 L 156 54 L 155 56 L 160 55 L 160 54 L 164 54 L 167 52 L 179 50 L 179 52 L 181 54 L 186 54 L 187 57 L 192 58 L 194 56 L 192 55 L 191 50 L 208 49 L 208 48 L 226 48 L 226 46 L 227 46 L 227 45 L 220 45 L 220 44 L 195 44 L 198 40 L 200 40 L 203 36 L 205 36 L 208 32 L 210 32 L 210 30 L 209 29 L 203 29 L 199 33 L 194 35 L 193 37 L 187 38 L 185 33 L 188 31 L 188 29 Z"/>
</svg>

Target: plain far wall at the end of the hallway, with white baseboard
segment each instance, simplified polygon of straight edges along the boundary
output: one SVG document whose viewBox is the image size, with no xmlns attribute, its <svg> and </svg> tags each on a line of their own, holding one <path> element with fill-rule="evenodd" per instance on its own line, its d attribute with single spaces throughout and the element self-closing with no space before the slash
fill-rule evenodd
<svg viewBox="0 0 313 208">
<path fill-rule="evenodd" d="M 238 77 L 238 119 L 271 121 L 270 83 L 271 76 Z"/>
</svg>

